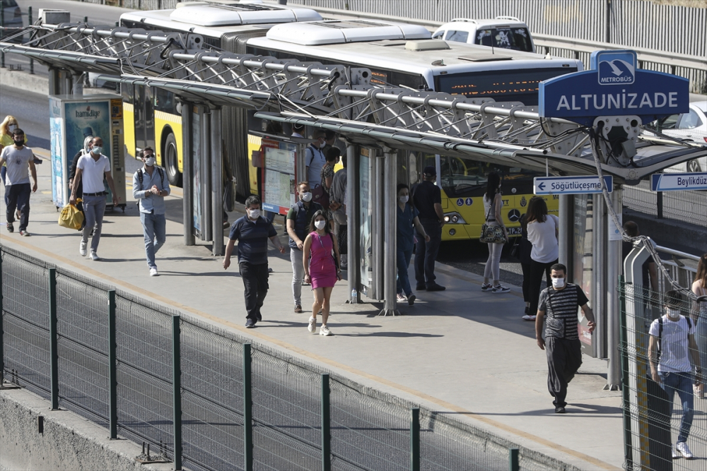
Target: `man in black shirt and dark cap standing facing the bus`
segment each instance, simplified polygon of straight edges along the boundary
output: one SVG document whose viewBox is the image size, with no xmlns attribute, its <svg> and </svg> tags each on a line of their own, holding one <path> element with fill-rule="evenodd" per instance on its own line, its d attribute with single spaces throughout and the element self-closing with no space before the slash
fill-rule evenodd
<svg viewBox="0 0 707 471">
<path fill-rule="evenodd" d="M 437 177 L 435 167 L 425 167 L 423 181 L 413 189 L 413 202 L 420 212 L 419 218 L 425 232 L 430 236 L 430 242 L 418 239 L 415 247 L 415 279 L 418 291 L 443 291 L 445 287 L 435 282 L 435 261 L 442 242 L 442 226 L 444 213 L 442 211 L 442 192 L 433 181 Z"/>
</svg>

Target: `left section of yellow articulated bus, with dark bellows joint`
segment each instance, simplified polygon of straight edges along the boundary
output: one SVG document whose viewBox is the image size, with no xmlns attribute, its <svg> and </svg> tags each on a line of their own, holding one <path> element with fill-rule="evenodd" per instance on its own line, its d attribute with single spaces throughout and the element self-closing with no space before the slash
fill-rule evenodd
<svg viewBox="0 0 707 471">
<path fill-rule="evenodd" d="M 310 8 L 262 3 L 177 4 L 172 10 L 134 11 L 120 16 L 120 25 L 148 31 L 193 32 L 215 49 L 245 54 L 245 41 L 265 35 L 278 23 L 321 20 Z M 159 88 L 122 84 L 125 145 L 135 156 L 146 147 L 155 149 L 159 165 L 165 167 L 170 184 L 182 184 L 182 117 L 175 95 Z M 250 165 L 260 141 L 248 136 L 247 113 L 224 107 L 223 149 L 235 177 L 236 195 L 257 193 L 257 172 Z"/>
</svg>

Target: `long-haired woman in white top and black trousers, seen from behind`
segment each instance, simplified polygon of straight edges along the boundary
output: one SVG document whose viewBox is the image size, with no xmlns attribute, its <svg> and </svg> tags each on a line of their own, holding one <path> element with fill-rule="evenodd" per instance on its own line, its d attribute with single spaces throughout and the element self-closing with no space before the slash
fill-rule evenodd
<svg viewBox="0 0 707 471">
<path fill-rule="evenodd" d="M 525 213 L 528 224 L 528 241 L 532 244 L 530 251 L 530 306 L 529 314 L 537 314 L 537 304 L 540 299 L 542 274 L 545 273 L 547 287 L 551 285 L 550 267 L 558 262 L 559 220 L 556 215 L 547 214 L 547 204 L 540 196 L 533 196 Z"/>
</svg>

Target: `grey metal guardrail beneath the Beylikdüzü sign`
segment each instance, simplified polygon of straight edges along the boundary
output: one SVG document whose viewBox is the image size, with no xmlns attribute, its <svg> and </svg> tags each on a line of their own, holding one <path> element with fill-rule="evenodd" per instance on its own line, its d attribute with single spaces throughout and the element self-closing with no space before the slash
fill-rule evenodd
<svg viewBox="0 0 707 471">
<path fill-rule="evenodd" d="M 624 185 L 622 196 L 624 206 L 639 213 L 707 227 L 707 191 L 650 191 L 644 180 Z"/>
</svg>

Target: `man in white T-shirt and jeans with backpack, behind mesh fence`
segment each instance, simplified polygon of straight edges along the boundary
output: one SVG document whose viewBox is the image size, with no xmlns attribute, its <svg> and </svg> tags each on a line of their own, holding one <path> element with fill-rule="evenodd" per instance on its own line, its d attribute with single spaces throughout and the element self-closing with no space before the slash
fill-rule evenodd
<svg viewBox="0 0 707 471">
<path fill-rule="evenodd" d="M 680 431 L 677 443 L 672 450 L 672 457 L 679 458 L 682 455 L 684 458 L 691 459 L 693 455 L 687 446 L 687 437 L 690 434 L 694 415 L 692 385 L 693 383 L 699 384 L 702 369 L 699 350 L 695 342 L 695 326 L 689 318 L 680 314 L 682 304 L 683 297 L 679 291 L 665 293 L 665 316 L 655 319 L 650 324 L 648 359 L 650 376 L 667 393 L 669 412 L 665 417 L 665 422 L 670 423 L 675 393 L 679 396 L 682 404 Z M 690 359 L 695 366 L 695 376 L 692 374 Z"/>
</svg>

